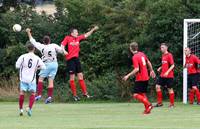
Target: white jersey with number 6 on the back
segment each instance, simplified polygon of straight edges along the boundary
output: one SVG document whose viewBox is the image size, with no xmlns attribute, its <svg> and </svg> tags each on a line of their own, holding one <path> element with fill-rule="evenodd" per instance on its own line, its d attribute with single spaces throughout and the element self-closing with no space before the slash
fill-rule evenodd
<svg viewBox="0 0 200 129">
<path fill-rule="evenodd" d="M 18 58 L 16 68 L 20 69 L 20 81 L 25 83 L 36 83 L 37 69 L 45 69 L 46 66 L 38 56 L 30 52 L 23 54 Z"/>
</svg>

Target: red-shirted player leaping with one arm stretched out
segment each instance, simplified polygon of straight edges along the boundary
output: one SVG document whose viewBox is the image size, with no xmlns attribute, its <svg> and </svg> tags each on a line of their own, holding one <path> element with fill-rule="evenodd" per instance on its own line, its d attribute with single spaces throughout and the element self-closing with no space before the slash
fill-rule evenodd
<svg viewBox="0 0 200 129">
<path fill-rule="evenodd" d="M 93 32 L 98 30 L 98 26 L 95 26 L 92 28 L 89 32 L 78 35 L 77 29 L 71 29 L 70 35 L 66 36 L 64 40 L 61 43 L 61 47 L 63 49 L 63 52 L 65 54 L 65 58 L 67 60 L 67 67 L 70 74 L 70 87 L 73 93 L 73 98 L 75 101 L 79 101 L 80 98 L 77 96 L 76 93 L 76 86 L 74 83 L 75 74 L 77 74 L 79 84 L 82 90 L 82 93 L 85 97 L 90 98 L 87 92 L 86 84 L 83 79 L 83 73 L 81 69 L 81 63 L 79 60 L 79 51 L 80 51 L 80 41 L 86 39 L 88 36 L 90 36 Z M 67 46 L 67 50 L 65 49 L 65 46 Z"/>
</svg>

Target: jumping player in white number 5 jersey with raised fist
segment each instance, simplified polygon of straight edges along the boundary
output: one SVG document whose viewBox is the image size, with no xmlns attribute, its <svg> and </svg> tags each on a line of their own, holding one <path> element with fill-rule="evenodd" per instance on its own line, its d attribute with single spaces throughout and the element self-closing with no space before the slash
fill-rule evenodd
<svg viewBox="0 0 200 129">
<path fill-rule="evenodd" d="M 58 70 L 58 63 L 57 63 L 57 53 L 63 53 L 62 48 L 57 44 L 51 43 L 49 36 L 44 36 L 43 44 L 36 42 L 36 40 L 32 37 L 31 29 L 27 28 L 26 32 L 30 39 L 30 42 L 41 52 L 42 54 L 42 61 L 46 65 L 45 70 L 41 70 L 39 73 L 39 80 L 37 86 L 37 96 L 35 100 L 39 100 L 42 97 L 42 90 L 43 90 L 43 80 L 44 78 L 48 78 L 48 97 L 45 100 L 45 103 L 52 102 L 52 95 L 53 95 L 53 87 L 54 87 L 54 78 L 56 76 Z"/>
</svg>

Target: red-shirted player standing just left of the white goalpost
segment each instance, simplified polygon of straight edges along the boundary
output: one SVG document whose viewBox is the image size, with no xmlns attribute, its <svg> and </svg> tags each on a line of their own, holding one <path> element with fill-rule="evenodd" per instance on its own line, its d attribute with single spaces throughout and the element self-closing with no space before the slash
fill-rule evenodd
<svg viewBox="0 0 200 129">
<path fill-rule="evenodd" d="M 173 90 L 173 79 L 174 79 L 174 59 L 173 55 L 168 52 L 168 45 L 162 43 L 160 46 L 162 52 L 162 65 L 157 69 L 160 73 L 160 77 L 157 80 L 156 92 L 157 92 L 157 104 L 154 107 L 161 107 L 162 104 L 162 87 L 167 87 L 169 92 L 170 108 L 174 107 L 174 90 Z"/>
</svg>

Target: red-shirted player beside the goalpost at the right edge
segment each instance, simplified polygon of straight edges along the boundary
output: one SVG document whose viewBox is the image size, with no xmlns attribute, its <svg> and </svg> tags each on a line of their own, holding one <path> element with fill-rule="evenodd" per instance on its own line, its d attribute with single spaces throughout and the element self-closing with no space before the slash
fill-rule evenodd
<svg viewBox="0 0 200 129">
<path fill-rule="evenodd" d="M 194 96 L 196 94 L 197 104 L 200 105 L 200 93 L 197 87 L 198 84 L 198 65 L 200 61 L 197 56 L 191 54 L 190 48 L 185 48 L 185 68 L 187 68 L 188 72 L 188 86 L 189 86 L 189 103 L 194 103 Z"/>
</svg>

